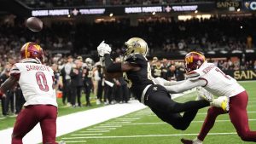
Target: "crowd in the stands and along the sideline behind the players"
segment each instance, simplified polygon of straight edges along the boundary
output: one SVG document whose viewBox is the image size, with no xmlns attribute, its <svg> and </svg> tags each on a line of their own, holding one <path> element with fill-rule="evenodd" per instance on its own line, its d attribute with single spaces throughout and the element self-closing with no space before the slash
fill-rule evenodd
<svg viewBox="0 0 256 144">
<path fill-rule="evenodd" d="M 62 91 L 62 102 L 70 107 L 82 107 L 81 91 L 85 94 L 85 106 L 91 106 L 90 94 L 97 97 L 96 104 L 127 102 L 131 94 L 123 78 L 106 82 L 102 67 L 90 58 L 96 53 L 96 46 L 108 37 L 113 47 L 113 55 L 119 59 L 123 43 L 129 37 L 143 37 L 150 48 L 149 55 L 160 53 L 177 54 L 180 51 L 211 50 L 232 52 L 255 48 L 256 29 L 254 17 L 224 17 L 209 20 L 173 19 L 139 20 L 137 26 L 130 26 L 128 20 L 90 24 L 55 23 L 44 26 L 42 32 L 30 32 L 24 20 L 0 23 L 0 71 L 1 84 L 9 77 L 9 70 L 19 61 L 20 47 L 32 41 L 40 43 L 44 49 L 44 63 L 55 71 L 55 87 Z M 242 26 L 242 27 L 241 27 Z M 138 31 L 140 30 L 140 31 Z M 137 35 L 135 36 L 134 33 Z M 73 55 L 70 55 L 73 54 Z M 81 56 L 79 56 L 79 55 Z M 68 56 L 70 55 L 70 56 Z M 153 55 L 153 56 L 154 56 Z M 183 62 L 166 59 L 152 60 L 152 74 L 167 80 L 184 78 Z M 256 60 L 213 60 L 223 70 L 256 69 Z M 20 112 L 24 103 L 19 86 L 15 86 L 2 101 L 3 115 Z"/>
</svg>

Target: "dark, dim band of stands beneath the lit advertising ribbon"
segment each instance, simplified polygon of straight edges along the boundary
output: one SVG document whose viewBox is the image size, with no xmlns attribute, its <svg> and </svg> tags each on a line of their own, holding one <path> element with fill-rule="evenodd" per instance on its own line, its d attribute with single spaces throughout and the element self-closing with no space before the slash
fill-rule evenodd
<svg viewBox="0 0 256 144">
<path fill-rule="evenodd" d="M 24 20 L 11 24 L 0 24 L 1 51 L 20 49 L 20 43 L 38 42 L 51 52 L 96 54 L 96 46 L 105 39 L 119 54 L 129 37 L 147 39 L 150 54 L 202 52 L 244 52 L 256 45 L 256 19 L 249 17 L 212 17 L 210 19 L 139 20 L 131 26 L 129 20 L 99 22 L 93 24 L 53 23 L 44 26 L 43 32 L 29 32 Z M 139 30 L 139 31 L 137 31 Z M 134 34 L 136 33 L 136 35 Z M 108 37 L 108 39 L 106 39 Z"/>
</svg>

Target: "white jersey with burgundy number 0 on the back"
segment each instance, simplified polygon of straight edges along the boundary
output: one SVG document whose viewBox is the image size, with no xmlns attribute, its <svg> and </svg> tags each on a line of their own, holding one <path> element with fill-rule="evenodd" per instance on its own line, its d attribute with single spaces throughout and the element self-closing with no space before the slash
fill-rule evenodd
<svg viewBox="0 0 256 144">
<path fill-rule="evenodd" d="M 11 73 L 19 75 L 20 89 L 28 105 L 53 105 L 57 107 L 54 72 L 49 66 L 37 63 L 16 63 Z"/>
</svg>

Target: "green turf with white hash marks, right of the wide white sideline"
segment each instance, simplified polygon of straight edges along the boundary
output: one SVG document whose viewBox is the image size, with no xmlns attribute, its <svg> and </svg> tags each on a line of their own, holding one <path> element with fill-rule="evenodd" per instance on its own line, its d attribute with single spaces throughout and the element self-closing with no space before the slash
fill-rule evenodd
<svg viewBox="0 0 256 144">
<path fill-rule="evenodd" d="M 256 82 L 241 83 L 249 94 L 247 112 L 251 130 L 256 130 Z M 176 101 L 189 101 L 195 99 L 195 93 L 185 95 Z M 90 144 L 177 144 L 180 139 L 194 139 L 201 130 L 206 116 L 207 108 L 201 109 L 189 129 L 185 131 L 174 130 L 157 118 L 148 108 L 138 112 L 114 118 L 102 124 L 96 124 L 83 130 L 58 137 L 58 141 L 67 143 Z M 207 144 L 242 144 L 236 135 L 236 130 L 230 123 L 228 114 L 217 118 L 216 124 L 210 131 L 204 143 Z"/>
</svg>

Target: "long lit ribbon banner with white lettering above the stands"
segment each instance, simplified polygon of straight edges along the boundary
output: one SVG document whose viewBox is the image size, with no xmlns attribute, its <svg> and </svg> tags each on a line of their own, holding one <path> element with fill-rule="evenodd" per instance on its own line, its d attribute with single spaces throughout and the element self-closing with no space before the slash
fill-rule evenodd
<svg viewBox="0 0 256 144">
<path fill-rule="evenodd" d="M 215 9 L 214 3 L 193 3 L 173 5 L 138 5 L 138 6 L 111 6 L 111 7 L 84 7 L 65 9 L 32 9 L 32 16 L 61 16 L 61 15 L 122 15 L 122 14 L 147 14 L 147 13 L 182 13 L 195 10 L 211 11 Z"/>
</svg>

